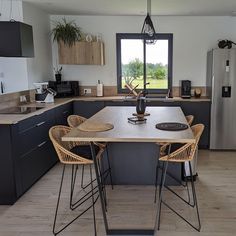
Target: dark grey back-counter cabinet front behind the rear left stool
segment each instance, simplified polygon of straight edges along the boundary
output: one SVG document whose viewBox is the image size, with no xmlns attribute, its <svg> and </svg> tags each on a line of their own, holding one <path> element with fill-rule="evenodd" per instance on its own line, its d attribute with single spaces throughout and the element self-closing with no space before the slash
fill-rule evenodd
<svg viewBox="0 0 236 236">
<path fill-rule="evenodd" d="M 85 118 L 90 118 L 104 107 L 104 101 L 74 101 L 73 103 L 74 114 Z"/>
</svg>

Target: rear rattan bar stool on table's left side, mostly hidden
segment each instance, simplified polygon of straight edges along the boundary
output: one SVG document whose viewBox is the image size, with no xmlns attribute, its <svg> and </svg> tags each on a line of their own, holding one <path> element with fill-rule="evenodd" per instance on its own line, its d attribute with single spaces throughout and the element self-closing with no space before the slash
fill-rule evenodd
<svg viewBox="0 0 236 236">
<path fill-rule="evenodd" d="M 79 116 L 79 115 L 70 115 L 67 117 L 67 123 L 72 128 L 78 127 L 80 124 L 82 124 L 86 120 L 87 119 L 85 117 Z M 78 143 L 78 145 L 80 145 L 80 143 Z M 81 142 L 81 145 L 89 145 L 89 143 L 88 142 Z M 96 145 L 98 145 L 101 148 L 106 150 L 108 169 L 102 170 L 100 162 L 98 162 L 98 166 L 99 166 L 99 172 L 100 172 L 100 176 L 101 176 L 101 184 L 103 186 L 103 191 L 104 191 L 104 196 L 105 196 L 105 205 L 107 205 L 105 180 L 106 180 L 108 174 L 109 174 L 109 178 L 110 178 L 111 187 L 113 189 L 112 172 L 111 172 L 111 165 L 110 165 L 110 160 L 109 160 L 108 147 L 107 147 L 107 143 L 96 143 Z M 81 187 L 82 188 L 84 187 L 84 185 L 83 185 L 84 177 L 83 176 L 84 176 L 84 166 L 82 166 L 82 178 L 81 178 Z"/>
</svg>

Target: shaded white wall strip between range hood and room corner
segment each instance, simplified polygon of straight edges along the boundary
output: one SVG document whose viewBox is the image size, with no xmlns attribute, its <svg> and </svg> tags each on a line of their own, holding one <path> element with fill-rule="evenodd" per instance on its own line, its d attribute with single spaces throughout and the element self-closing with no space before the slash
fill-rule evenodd
<svg viewBox="0 0 236 236">
<path fill-rule="evenodd" d="M 27 59 L 28 85 L 52 79 L 52 51 L 49 15 L 23 2 L 24 22 L 32 25 L 34 36 L 34 58 Z"/>
</svg>

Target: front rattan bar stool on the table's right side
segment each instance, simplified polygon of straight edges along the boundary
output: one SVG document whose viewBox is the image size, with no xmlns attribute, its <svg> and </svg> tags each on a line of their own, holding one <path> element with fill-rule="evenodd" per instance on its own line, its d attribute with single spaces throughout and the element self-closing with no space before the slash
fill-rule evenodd
<svg viewBox="0 0 236 236">
<path fill-rule="evenodd" d="M 192 173 L 192 167 L 190 161 L 194 158 L 195 152 L 198 147 L 198 143 L 200 140 L 200 137 L 202 135 L 202 132 L 204 130 L 203 124 L 197 124 L 191 127 L 192 132 L 194 134 L 195 143 L 188 143 L 184 146 L 178 148 L 177 150 L 170 152 L 171 145 L 168 147 L 168 154 L 164 156 L 159 157 L 159 162 L 163 163 L 162 168 L 162 175 L 161 175 L 161 184 L 159 187 L 159 201 L 158 201 L 158 215 L 156 218 L 156 229 L 160 229 L 160 216 L 161 216 L 161 206 L 162 203 L 168 207 L 171 211 L 173 211 L 175 214 L 177 214 L 181 219 L 183 219 L 186 223 L 188 223 L 191 227 L 193 227 L 195 230 L 200 231 L 201 229 L 201 222 L 200 222 L 200 216 L 199 216 L 199 210 L 198 210 L 198 204 L 197 204 L 197 196 L 196 196 L 196 190 L 194 185 L 194 179 L 193 179 L 193 173 Z M 176 193 L 173 189 L 171 189 L 169 186 L 165 185 L 166 175 L 167 175 L 167 169 L 168 169 L 168 163 L 174 162 L 174 163 L 184 163 L 188 162 L 189 169 L 190 169 L 190 177 L 191 177 L 191 188 L 192 188 L 192 199 L 193 203 L 190 202 L 190 195 L 189 195 L 189 189 L 188 189 L 188 182 L 186 182 L 186 187 L 188 191 L 188 200 L 185 200 L 182 196 L 180 196 L 178 193 Z M 180 200 L 185 202 L 187 205 L 196 208 L 197 212 L 197 219 L 198 219 L 198 226 L 194 226 L 188 219 L 184 218 L 179 212 L 177 212 L 175 209 L 173 209 L 169 204 L 167 204 L 163 200 L 163 189 L 166 188 L 171 193 L 173 193 L 175 196 L 177 196 Z"/>
</svg>

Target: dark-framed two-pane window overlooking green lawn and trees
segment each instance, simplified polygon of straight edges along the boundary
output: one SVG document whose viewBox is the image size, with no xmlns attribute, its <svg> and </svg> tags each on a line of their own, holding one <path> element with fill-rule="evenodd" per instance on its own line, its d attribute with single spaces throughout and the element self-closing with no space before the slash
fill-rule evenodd
<svg viewBox="0 0 236 236">
<path fill-rule="evenodd" d="M 117 85 L 127 93 L 126 83 L 149 93 L 167 93 L 172 86 L 173 34 L 155 34 L 147 44 L 144 34 L 116 34 Z"/>
</svg>

